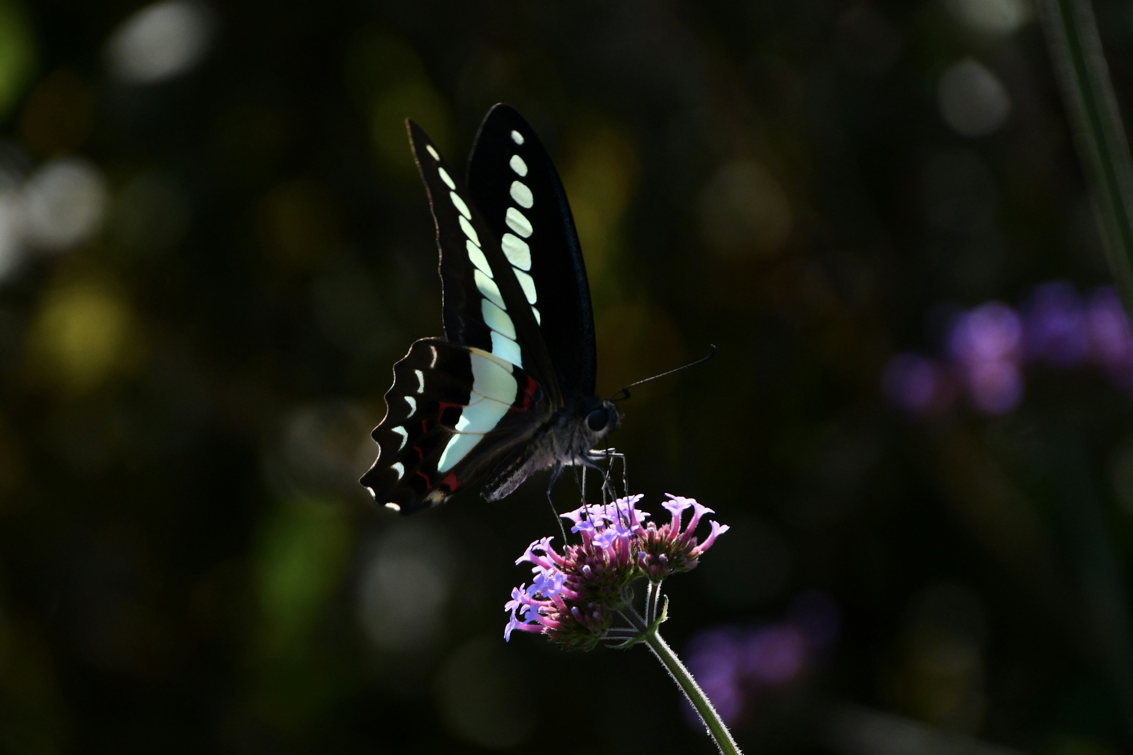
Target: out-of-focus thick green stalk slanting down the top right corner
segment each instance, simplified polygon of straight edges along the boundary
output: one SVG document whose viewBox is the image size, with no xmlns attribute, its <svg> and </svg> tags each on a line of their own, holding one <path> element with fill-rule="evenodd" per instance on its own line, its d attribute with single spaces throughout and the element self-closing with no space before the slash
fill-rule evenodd
<svg viewBox="0 0 1133 755">
<path fill-rule="evenodd" d="M 1133 314 L 1133 160 L 1090 0 L 1038 0 L 1109 266 Z"/>
</svg>

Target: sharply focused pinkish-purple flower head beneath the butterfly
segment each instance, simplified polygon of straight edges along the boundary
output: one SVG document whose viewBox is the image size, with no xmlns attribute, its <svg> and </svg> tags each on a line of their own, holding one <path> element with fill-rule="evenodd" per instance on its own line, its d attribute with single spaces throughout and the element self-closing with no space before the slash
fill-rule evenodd
<svg viewBox="0 0 1133 755">
<path fill-rule="evenodd" d="M 668 496 L 662 506 L 671 521 L 659 527 L 638 511 L 642 496 L 619 498 L 611 504 L 585 505 L 563 514 L 581 544 L 557 552 L 552 538 L 536 540 L 516 563 L 533 565 L 531 584 L 511 591 L 504 610 L 511 619 L 504 640 L 516 629 L 547 635 L 569 650 L 590 650 L 606 637 L 614 615 L 627 607 L 630 583 L 648 577 L 659 583 L 666 576 L 695 568 L 700 556 L 726 525 L 710 522 L 712 532 L 699 542 L 693 531 L 705 514 L 714 513 L 692 498 Z M 692 509 L 688 524 L 684 512 Z"/>
</svg>

